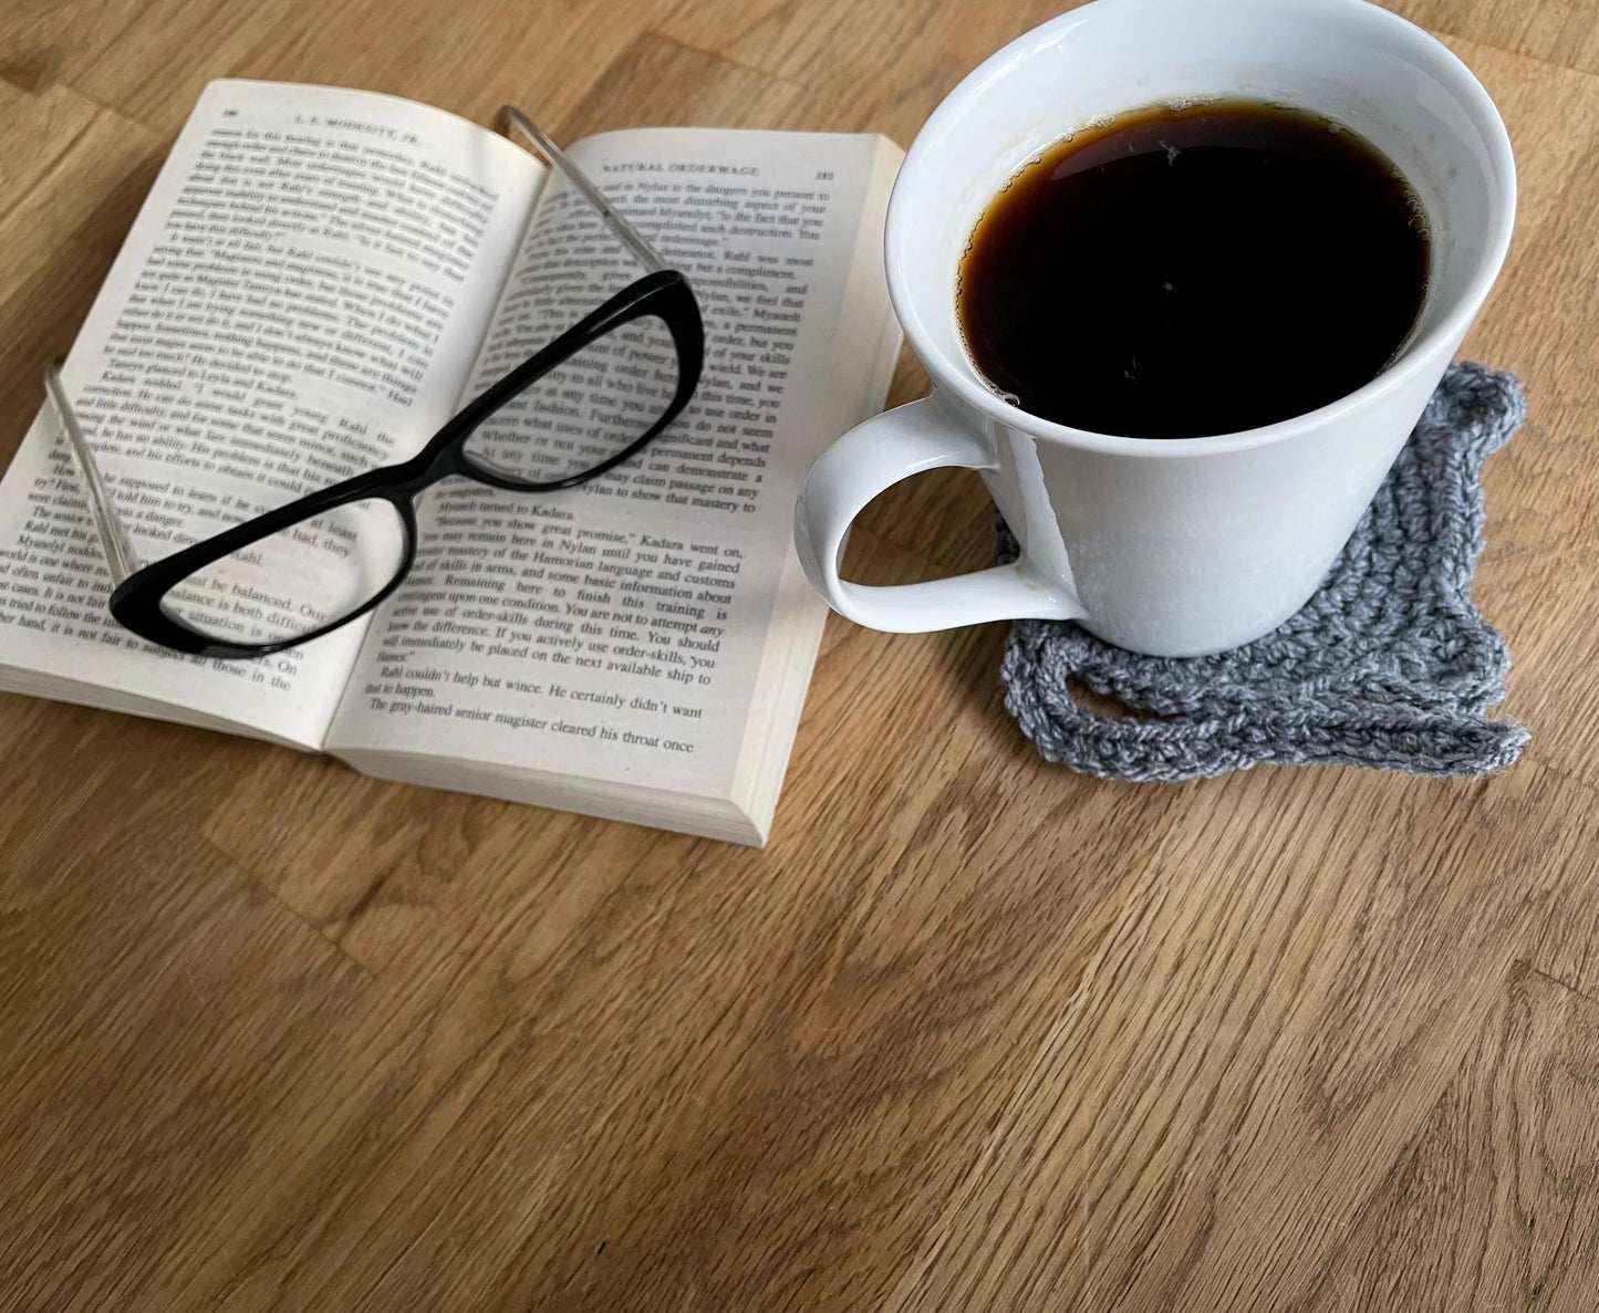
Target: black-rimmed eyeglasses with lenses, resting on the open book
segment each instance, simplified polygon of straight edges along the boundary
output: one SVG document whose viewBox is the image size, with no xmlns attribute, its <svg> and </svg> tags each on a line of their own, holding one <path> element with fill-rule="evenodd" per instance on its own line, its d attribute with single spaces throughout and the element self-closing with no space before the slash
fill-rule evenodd
<svg viewBox="0 0 1599 1313">
<path fill-rule="evenodd" d="M 179 653 L 256 657 L 360 619 L 416 560 L 416 501 L 453 475 L 512 493 L 574 488 L 636 456 L 699 384 L 705 329 L 688 280 L 617 214 L 560 147 L 512 107 L 502 125 L 603 219 L 648 270 L 483 390 L 409 461 L 142 565 L 56 366 L 45 389 L 77 457 L 126 629 Z"/>
</svg>

